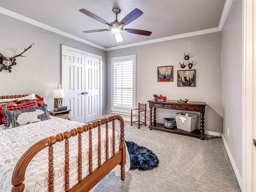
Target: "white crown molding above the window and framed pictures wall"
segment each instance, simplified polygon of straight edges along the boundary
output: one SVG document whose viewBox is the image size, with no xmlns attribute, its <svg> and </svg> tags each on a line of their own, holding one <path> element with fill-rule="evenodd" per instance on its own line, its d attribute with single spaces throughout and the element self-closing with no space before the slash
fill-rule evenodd
<svg viewBox="0 0 256 192">
<path fill-rule="evenodd" d="M 140 45 L 145 45 L 145 44 L 157 43 L 157 42 L 162 42 L 162 41 L 174 40 L 174 39 L 191 37 L 191 36 L 208 34 L 208 33 L 214 33 L 214 32 L 219 32 L 219 31 L 221 31 L 220 28 L 215 27 L 215 28 L 210 28 L 210 29 L 205 29 L 205 30 L 200 30 L 200 31 L 194 31 L 194 32 L 189 32 L 189 33 L 183 33 L 183 34 L 178 34 L 178 35 L 173 35 L 173 36 L 168 36 L 168 37 L 152 39 L 152 40 L 148 40 L 148 41 L 120 45 L 120 46 L 116 46 L 116 47 L 109 47 L 106 50 L 111 51 L 111 50 L 116 50 L 116 49 L 140 46 Z"/>
</svg>

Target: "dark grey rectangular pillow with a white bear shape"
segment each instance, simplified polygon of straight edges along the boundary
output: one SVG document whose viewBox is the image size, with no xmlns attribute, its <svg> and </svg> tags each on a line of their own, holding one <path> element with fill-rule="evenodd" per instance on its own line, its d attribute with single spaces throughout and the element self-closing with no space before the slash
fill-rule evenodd
<svg viewBox="0 0 256 192">
<path fill-rule="evenodd" d="M 6 118 L 6 127 L 4 129 L 50 119 L 47 105 L 13 111 L 4 110 L 4 116 Z"/>
</svg>

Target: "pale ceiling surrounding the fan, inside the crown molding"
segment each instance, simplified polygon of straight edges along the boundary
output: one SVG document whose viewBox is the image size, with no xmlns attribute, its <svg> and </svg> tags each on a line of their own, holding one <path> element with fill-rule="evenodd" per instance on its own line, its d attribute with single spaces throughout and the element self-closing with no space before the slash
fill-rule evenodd
<svg viewBox="0 0 256 192">
<path fill-rule="evenodd" d="M 111 48 L 216 28 L 224 3 L 225 0 L 0 0 L 0 7 Z M 121 9 L 119 21 L 135 8 L 142 10 L 144 14 L 124 28 L 148 30 L 152 34 L 143 36 L 121 32 L 123 42 L 116 42 L 112 32 L 83 32 L 108 27 L 79 12 L 80 9 L 84 8 L 110 23 L 115 20 L 112 8 L 116 7 Z"/>
</svg>

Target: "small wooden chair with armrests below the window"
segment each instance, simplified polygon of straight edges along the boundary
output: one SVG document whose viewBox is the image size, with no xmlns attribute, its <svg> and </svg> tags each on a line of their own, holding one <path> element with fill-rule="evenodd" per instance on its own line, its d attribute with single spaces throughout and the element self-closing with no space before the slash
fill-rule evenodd
<svg viewBox="0 0 256 192">
<path fill-rule="evenodd" d="M 133 113 L 135 111 L 135 113 Z M 132 117 L 135 116 L 138 118 L 138 120 L 133 121 Z M 141 121 L 140 118 L 144 117 L 144 121 Z M 136 109 L 131 110 L 131 125 L 136 124 L 138 126 L 138 129 L 141 125 L 144 124 L 146 126 L 146 104 L 139 103 L 139 107 Z"/>
</svg>

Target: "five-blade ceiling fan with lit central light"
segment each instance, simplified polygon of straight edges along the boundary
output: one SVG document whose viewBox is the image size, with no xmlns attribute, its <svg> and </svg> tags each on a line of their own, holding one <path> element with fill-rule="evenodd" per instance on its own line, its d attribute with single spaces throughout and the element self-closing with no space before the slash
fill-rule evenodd
<svg viewBox="0 0 256 192">
<path fill-rule="evenodd" d="M 112 11 L 116 15 L 116 19 L 111 23 L 106 22 L 105 20 L 94 15 L 93 13 L 89 12 L 88 10 L 80 9 L 79 11 L 82 12 L 83 14 L 86 14 L 87 16 L 103 23 L 103 24 L 106 24 L 109 27 L 109 29 L 83 31 L 84 33 L 112 31 L 115 33 L 117 42 L 123 41 L 122 35 L 120 34 L 121 31 L 138 34 L 138 35 L 146 35 L 146 36 L 150 36 L 150 34 L 152 33 L 150 31 L 145 31 L 145 30 L 140 30 L 140 29 L 128 29 L 128 28 L 124 29 L 124 26 L 126 26 L 130 22 L 133 22 L 134 20 L 136 20 L 138 17 L 140 17 L 143 14 L 143 12 L 137 8 L 134 9 L 132 12 L 130 12 L 128 15 L 126 15 L 120 22 L 117 20 L 117 15 L 121 12 L 121 10 L 119 8 L 113 8 Z"/>
</svg>

